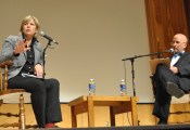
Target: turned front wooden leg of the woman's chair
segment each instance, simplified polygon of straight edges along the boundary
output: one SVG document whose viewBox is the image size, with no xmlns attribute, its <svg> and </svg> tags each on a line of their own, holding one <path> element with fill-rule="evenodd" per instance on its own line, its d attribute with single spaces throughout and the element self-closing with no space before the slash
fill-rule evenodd
<svg viewBox="0 0 190 130">
<path fill-rule="evenodd" d="M 20 95 L 20 129 L 25 129 L 25 108 L 24 108 L 24 96 L 23 94 Z"/>
</svg>

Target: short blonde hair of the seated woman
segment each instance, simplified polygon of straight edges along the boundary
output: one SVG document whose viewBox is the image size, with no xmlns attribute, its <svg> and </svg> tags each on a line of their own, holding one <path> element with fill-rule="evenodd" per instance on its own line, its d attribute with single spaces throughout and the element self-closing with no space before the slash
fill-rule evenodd
<svg viewBox="0 0 190 130">
<path fill-rule="evenodd" d="M 39 22 L 38 22 L 38 20 L 37 20 L 35 16 L 31 16 L 31 15 L 27 15 L 27 16 L 24 17 L 24 20 L 22 21 L 21 27 L 20 27 L 20 32 L 21 32 L 21 34 L 23 32 L 23 27 L 24 27 L 24 25 L 25 25 L 26 23 L 28 23 L 30 20 L 33 20 L 33 21 L 35 22 L 36 29 L 37 29 L 36 35 L 38 34 L 39 28 L 40 28 Z"/>
</svg>

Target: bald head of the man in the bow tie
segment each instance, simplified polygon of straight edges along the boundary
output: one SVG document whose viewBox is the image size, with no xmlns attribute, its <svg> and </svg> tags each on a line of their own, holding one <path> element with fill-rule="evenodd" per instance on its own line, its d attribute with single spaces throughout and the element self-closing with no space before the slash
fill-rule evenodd
<svg viewBox="0 0 190 130">
<path fill-rule="evenodd" d="M 177 34 L 174 36 L 170 46 L 174 49 L 174 52 L 182 52 L 185 51 L 188 43 L 188 38 L 182 34 Z"/>
</svg>

